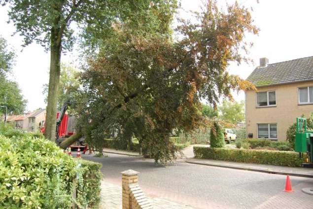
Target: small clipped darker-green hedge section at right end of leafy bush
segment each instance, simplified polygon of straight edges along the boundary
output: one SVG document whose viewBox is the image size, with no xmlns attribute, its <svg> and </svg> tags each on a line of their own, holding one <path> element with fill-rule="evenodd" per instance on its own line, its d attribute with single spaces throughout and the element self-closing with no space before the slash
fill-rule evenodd
<svg viewBox="0 0 313 209">
<path fill-rule="evenodd" d="M 102 164 L 74 158 L 78 163 L 76 204 L 79 208 L 99 208 Z"/>
</svg>

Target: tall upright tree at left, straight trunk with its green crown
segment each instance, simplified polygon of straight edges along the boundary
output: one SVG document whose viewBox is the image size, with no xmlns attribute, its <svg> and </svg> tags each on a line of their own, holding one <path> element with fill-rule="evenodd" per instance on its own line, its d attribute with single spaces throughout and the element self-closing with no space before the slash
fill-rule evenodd
<svg viewBox="0 0 313 209">
<path fill-rule="evenodd" d="M 50 50 L 50 72 L 45 136 L 55 138 L 56 108 L 62 51 L 75 41 L 73 25 L 79 28 L 83 45 L 96 47 L 100 37 L 111 35 L 114 24 L 129 23 L 134 28 L 166 27 L 176 0 L 0 0 L 10 4 L 8 15 L 24 45 L 33 41 Z M 163 19 L 162 19 L 163 18 Z M 159 21 L 160 24 L 155 24 Z M 162 30 L 158 28 L 155 30 Z M 78 32 L 78 31 L 77 31 Z"/>
</svg>

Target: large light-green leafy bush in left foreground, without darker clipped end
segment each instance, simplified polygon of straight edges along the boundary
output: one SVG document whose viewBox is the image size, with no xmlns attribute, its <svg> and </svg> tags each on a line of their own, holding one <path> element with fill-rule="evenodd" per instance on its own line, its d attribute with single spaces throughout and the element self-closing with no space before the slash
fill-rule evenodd
<svg viewBox="0 0 313 209">
<path fill-rule="evenodd" d="M 0 208 L 70 208 L 75 166 L 51 141 L 0 135 Z"/>
</svg>

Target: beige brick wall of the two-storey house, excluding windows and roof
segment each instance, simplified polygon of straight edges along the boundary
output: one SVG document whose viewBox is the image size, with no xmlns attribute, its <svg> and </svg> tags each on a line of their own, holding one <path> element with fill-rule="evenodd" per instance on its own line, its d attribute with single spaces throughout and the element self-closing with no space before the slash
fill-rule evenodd
<svg viewBox="0 0 313 209">
<path fill-rule="evenodd" d="M 278 140 L 286 139 L 288 127 L 296 122 L 296 117 L 313 112 L 313 104 L 298 104 L 298 88 L 313 86 L 313 81 L 268 86 L 258 88 L 259 92 L 276 91 L 276 106 L 256 107 L 256 92 L 245 92 L 246 129 L 257 138 L 258 123 L 277 123 Z"/>
</svg>

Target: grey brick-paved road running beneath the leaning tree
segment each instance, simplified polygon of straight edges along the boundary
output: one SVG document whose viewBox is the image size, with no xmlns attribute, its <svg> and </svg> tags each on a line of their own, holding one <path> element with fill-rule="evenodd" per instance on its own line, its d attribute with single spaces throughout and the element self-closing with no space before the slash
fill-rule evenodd
<svg viewBox="0 0 313 209">
<path fill-rule="evenodd" d="M 109 154 L 85 159 L 103 164 L 105 180 L 121 185 L 120 172 L 139 171 L 139 185 L 149 197 L 168 199 L 198 209 L 313 209 L 313 196 L 302 193 L 313 179 L 291 177 L 294 193 L 284 193 L 285 176 L 175 163 L 164 168 L 153 160 Z"/>
</svg>

